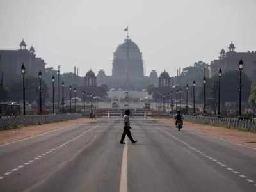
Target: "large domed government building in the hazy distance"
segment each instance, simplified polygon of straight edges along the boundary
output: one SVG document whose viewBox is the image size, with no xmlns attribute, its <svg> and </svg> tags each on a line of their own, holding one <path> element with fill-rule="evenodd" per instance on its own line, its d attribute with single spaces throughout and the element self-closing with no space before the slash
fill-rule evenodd
<svg viewBox="0 0 256 192">
<path fill-rule="evenodd" d="M 108 88 L 122 90 L 143 90 L 150 84 L 158 85 L 156 70 L 145 76 L 142 52 L 131 38 L 125 38 L 124 42 L 116 48 L 112 62 L 112 75 L 107 76 L 104 70 L 97 74 L 97 85 L 106 84 Z"/>
</svg>

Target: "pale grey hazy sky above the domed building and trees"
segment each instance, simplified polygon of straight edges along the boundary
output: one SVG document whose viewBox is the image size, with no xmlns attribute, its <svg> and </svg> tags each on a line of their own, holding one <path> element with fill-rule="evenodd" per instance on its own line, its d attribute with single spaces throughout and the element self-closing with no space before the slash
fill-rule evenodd
<svg viewBox="0 0 256 192">
<path fill-rule="evenodd" d="M 256 51 L 255 10 L 256 0 L 0 0 L 0 49 L 17 49 L 24 38 L 47 67 L 111 74 L 129 26 L 147 74 L 174 75 L 195 61 L 210 63 L 230 41 L 237 51 Z"/>
</svg>

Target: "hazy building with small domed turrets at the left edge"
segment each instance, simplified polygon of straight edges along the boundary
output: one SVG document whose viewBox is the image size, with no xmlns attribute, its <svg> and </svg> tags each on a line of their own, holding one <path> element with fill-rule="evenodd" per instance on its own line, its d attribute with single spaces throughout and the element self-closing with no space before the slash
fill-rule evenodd
<svg viewBox="0 0 256 192">
<path fill-rule="evenodd" d="M 45 72 L 45 61 L 36 57 L 33 46 L 26 49 L 27 45 L 22 40 L 18 50 L 0 50 L 0 71 L 4 82 L 20 81 L 21 66 L 24 63 L 26 68 L 26 77 L 38 77 L 38 72 Z"/>
</svg>

